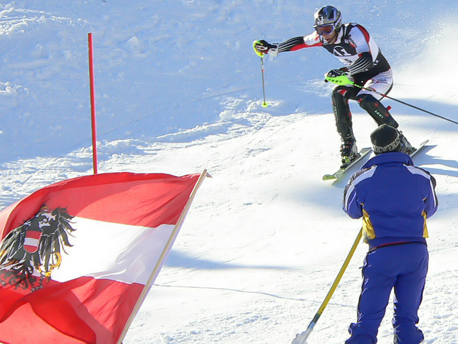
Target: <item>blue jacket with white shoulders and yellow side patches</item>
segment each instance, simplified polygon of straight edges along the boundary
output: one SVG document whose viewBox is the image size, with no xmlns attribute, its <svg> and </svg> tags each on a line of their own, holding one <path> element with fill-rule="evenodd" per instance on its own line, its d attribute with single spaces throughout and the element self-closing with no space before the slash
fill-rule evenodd
<svg viewBox="0 0 458 344">
<path fill-rule="evenodd" d="M 437 210 L 436 180 L 415 167 L 402 152 L 388 152 L 368 160 L 344 191 L 344 211 L 363 218 L 364 241 L 370 248 L 423 242 L 426 218 Z"/>
</svg>

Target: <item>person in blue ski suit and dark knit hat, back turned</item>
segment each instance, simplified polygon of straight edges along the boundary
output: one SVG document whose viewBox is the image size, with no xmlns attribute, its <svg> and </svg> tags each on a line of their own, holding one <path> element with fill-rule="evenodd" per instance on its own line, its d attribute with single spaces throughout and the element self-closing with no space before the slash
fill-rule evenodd
<svg viewBox="0 0 458 344">
<path fill-rule="evenodd" d="M 416 327 L 428 268 L 426 218 L 437 210 L 436 180 L 413 166 L 400 151 L 399 132 L 386 124 L 370 135 L 376 156 L 350 179 L 344 211 L 363 218 L 369 251 L 362 269 L 358 319 L 346 344 L 377 342 L 377 333 L 394 288 L 394 343 L 417 344 Z"/>
</svg>

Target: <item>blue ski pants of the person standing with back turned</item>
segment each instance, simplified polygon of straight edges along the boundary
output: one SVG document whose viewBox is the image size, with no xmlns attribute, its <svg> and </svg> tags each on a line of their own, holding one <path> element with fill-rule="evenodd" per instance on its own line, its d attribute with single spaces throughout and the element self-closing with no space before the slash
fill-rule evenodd
<svg viewBox="0 0 458 344">
<path fill-rule="evenodd" d="M 394 343 L 418 344 L 423 333 L 416 327 L 428 269 L 424 243 L 405 243 L 369 251 L 362 269 L 358 321 L 349 327 L 346 344 L 377 343 L 377 333 L 394 288 Z"/>
</svg>

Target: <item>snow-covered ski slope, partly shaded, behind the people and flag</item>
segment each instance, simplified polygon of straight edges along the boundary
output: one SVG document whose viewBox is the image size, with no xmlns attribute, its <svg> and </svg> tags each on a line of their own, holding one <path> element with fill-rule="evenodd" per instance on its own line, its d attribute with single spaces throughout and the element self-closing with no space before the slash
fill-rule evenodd
<svg viewBox="0 0 458 344">
<path fill-rule="evenodd" d="M 299 0 L 0 2 L 0 208 L 92 174 L 88 37 L 94 37 L 99 173 L 207 178 L 124 344 L 290 343 L 318 311 L 360 228 L 341 210 L 340 141 L 323 48 L 261 61 L 254 39 L 312 32 L 326 5 Z M 390 96 L 458 121 L 455 0 L 345 0 L 345 22 L 375 37 L 394 70 Z M 425 343 L 458 343 L 456 124 L 391 100 L 415 156 L 437 179 Z M 351 103 L 359 148 L 374 121 Z M 359 165 L 360 166 L 360 165 Z M 355 167 L 351 172 L 358 169 Z M 360 243 L 309 344 L 348 338 Z M 392 305 L 379 343 L 392 342 Z"/>
</svg>

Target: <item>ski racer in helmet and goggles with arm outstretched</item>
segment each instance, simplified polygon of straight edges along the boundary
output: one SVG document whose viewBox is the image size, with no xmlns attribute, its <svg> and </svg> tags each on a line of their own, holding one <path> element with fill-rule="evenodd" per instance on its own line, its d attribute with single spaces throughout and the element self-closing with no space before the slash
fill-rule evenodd
<svg viewBox="0 0 458 344">
<path fill-rule="evenodd" d="M 261 54 L 277 56 L 279 52 L 295 51 L 302 48 L 322 46 L 346 66 L 332 69 L 329 77 L 346 75 L 355 84 L 387 94 L 393 86 L 393 73 L 388 61 L 382 55 L 374 38 L 357 23 L 342 24 L 342 16 L 333 6 L 324 6 L 314 14 L 315 31 L 307 36 L 291 38 L 282 43 L 270 44 L 265 40 L 254 41 L 254 49 Z M 352 115 L 348 100 L 358 101 L 361 108 L 374 118 L 378 125 L 388 124 L 394 128 L 397 122 L 382 105 L 380 95 L 353 85 L 336 86 L 332 91 L 332 108 L 337 132 L 342 145 L 340 156 L 342 168 L 347 167 L 359 156 L 353 134 Z M 410 153 L 414 148 L 400 133 L 403 151 Z"/>
</svg>

